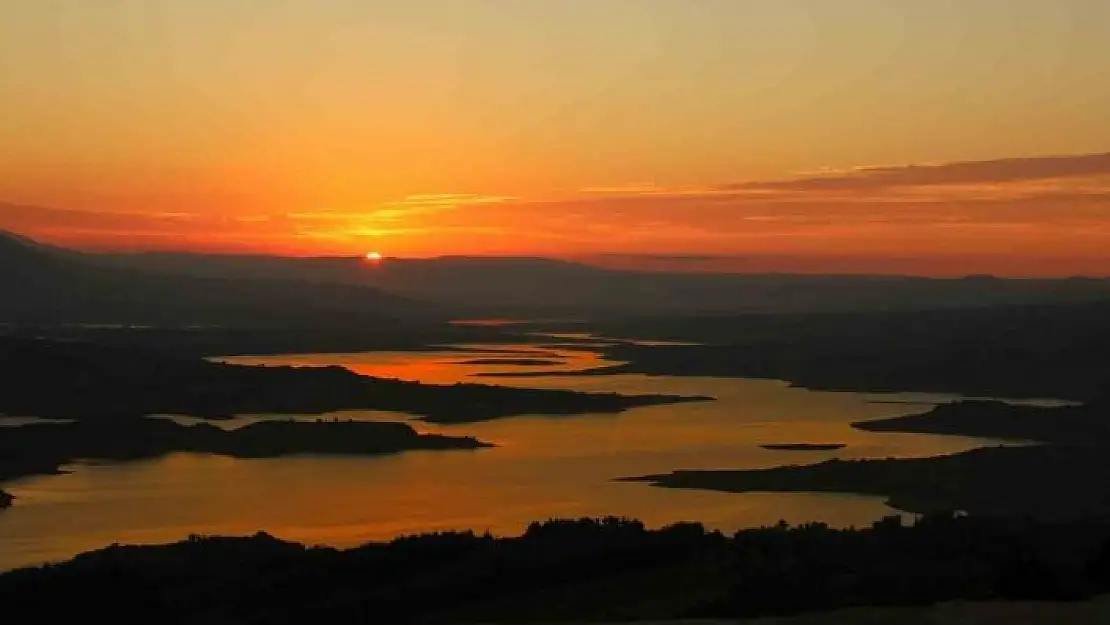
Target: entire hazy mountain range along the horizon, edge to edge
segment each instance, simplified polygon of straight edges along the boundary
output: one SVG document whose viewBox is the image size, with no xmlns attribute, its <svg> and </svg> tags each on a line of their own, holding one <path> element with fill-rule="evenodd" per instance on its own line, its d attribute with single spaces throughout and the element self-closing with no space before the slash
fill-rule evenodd
<svg viewBox="0 0 1110 625">
<path fill-rule="evenodd" d="M 1104 279 L 633 271 L 543 258 L 82 253 L 0 233 L 0 321 L 150 325 L 403 324 L 1067 303 Z"/>
</svg>

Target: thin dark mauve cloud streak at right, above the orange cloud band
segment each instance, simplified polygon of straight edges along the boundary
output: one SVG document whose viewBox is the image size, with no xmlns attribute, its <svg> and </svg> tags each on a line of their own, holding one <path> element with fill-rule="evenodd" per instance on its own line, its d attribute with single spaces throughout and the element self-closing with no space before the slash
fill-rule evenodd
<svg viewBox="0 0 1110 625">
<path fill-rule="evenodd" d="M 901 187 L 997 184 L 1110 175 L 1110 153 L 859 168 L 830 175 L 745 182 L 727 191 L 874 191 Z"/>
</svg>

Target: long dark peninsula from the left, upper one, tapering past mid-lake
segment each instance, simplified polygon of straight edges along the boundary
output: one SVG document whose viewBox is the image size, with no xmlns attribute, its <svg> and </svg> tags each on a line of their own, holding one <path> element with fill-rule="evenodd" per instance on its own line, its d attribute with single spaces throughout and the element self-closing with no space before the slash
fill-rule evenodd
<svg viewBox="0 0 1110 625">
<path fill-rule="evenodd" d="M 110 420 L 151 414 L 322 414 L 383 410 L 435 423 L 522 414 L 620 412 L 709 397 L 431 385 L 357 375 L 340 366 L 246 366 L 157 352 L 0 336 L 0 413 Z"/>
</svg>

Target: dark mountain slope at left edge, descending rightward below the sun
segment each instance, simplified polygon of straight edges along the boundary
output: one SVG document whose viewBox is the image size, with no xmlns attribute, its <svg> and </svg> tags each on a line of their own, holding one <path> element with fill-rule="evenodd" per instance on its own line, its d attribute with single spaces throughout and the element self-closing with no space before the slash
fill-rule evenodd
<svg viewBox="0 0 1110 625">
<path fill-rule="evenodd" d="M 140 325 L 382 324 L 433 309 L 367 285 L 198 276 L 113 266 L 94 255 L 0 232 L 0 322 Z"/>
</svg>

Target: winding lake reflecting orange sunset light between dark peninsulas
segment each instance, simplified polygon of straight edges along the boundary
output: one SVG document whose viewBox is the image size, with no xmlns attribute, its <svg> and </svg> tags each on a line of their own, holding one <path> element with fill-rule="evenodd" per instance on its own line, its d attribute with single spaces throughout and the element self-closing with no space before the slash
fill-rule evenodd
<svg viewBox="0 0 1110 625">
<path fill-rule="evenodd" d="M 310 544 L 350 546 L 398 534 L 473 528 L 515 534 L 552 516 L 624 515 L 653 526 L 700 521 L 726 531 L 788 522 L 860 525 L 892 511 L 881 500 L 828 494 L 727 494 L 655 488 L 613 478 L 675 468 L 761 467 L 830 457 L 909 457 L 998 444 L 959 436 L 860 432 L 849 423 L 927 410 L 952 397 L 815 392 L 783 382 L 644 375 L 490 377 L 613 364 L 582 335 L 548 344 L 445 346 L 440 351 L 221 359 L 266 365 L 339 364 L 359 373 L 450 384 L 712 395 L 716 402 L 623 414 L 525 416 L 437 426 L 405 415 L 350 411 L 325 419 L 412 421 L 422 431 L 472 434 L 497 446 L 381 457 L 234 460 L 172 454 L 155 461 L 79 464 L 63 475 L 4 484 L 18 497 L 0 513 L 0 569 L 68 558 L 111 543 L 161 543 L 189 534 L 264 530 Z M 555 364 L 464 364 L 528 359 Z M 836 363 L 829 363 L 836 366 Z M 274 415 L 243 415 L 234 427 Z M 316 416 L 305 417 L 316 419 Z M 18 426 L 26 421 L 9 422 Z M 844 443 L 835 452 L 760 448 Z"/>
</svg>

